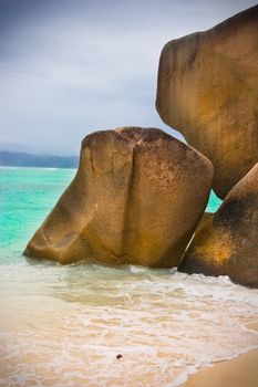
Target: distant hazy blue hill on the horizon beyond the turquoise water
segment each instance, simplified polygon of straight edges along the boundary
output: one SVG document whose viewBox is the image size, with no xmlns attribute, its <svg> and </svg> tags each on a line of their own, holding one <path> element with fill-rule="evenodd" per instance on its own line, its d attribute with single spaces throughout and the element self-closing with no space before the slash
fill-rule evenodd
<svg viewBox="0 0 258 387">
<path fill-rule="evenodd" d="M 75 156 L 37 156 L 0 150 L 0 166 L 4 167 L 76 168 L 78 164 Z"/>
</svg>

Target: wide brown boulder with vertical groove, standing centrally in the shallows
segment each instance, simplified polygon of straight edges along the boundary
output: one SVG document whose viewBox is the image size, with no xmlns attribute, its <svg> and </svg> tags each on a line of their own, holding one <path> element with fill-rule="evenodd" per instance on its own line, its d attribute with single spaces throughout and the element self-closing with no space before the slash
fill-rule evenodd
<svg viewBox="0 0 258 387">
<path fill-rule="evenodd" d="M 155 128 L 84 138 L 78 174 L 24 254 L 60 263 L 177 265 L 211 187 L 211 163 Z"/>
</svg>

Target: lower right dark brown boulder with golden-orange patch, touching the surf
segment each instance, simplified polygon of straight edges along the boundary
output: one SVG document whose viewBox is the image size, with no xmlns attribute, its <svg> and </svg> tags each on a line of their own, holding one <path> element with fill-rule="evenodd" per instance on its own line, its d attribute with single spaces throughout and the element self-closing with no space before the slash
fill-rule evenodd
<svg viewBox="0 0 258 387">
<path fill-rule="evenodd" d="M 258 287 L 258 164 L 196 232 L 178 270 Z"/>
</svg>

